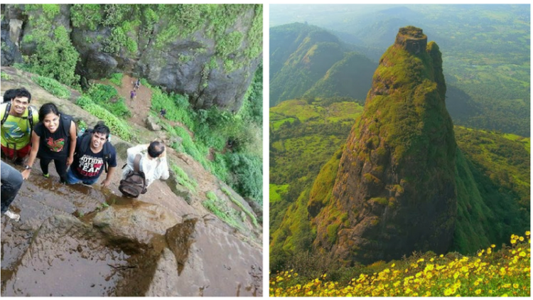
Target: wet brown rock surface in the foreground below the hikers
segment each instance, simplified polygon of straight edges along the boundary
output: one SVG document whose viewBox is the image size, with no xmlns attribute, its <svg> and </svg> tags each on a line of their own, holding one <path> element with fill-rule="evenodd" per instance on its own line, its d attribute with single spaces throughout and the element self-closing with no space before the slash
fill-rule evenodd
<svg viewBox="0 0 533 300">
<path fill-rule="evenodd" d="M 131 199 L 41 174 L 11 205 L 21 220 L 0 218 L 1 296 L 262 296 L 261 247 L 205 215 L 203 194 L 197 208 L 163 182 Z"/>
</svg>

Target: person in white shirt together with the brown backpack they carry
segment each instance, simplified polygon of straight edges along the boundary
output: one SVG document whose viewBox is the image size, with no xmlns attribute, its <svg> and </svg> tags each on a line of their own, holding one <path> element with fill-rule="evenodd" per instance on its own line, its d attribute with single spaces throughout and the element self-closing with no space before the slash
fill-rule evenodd
<svg viewBox="0 0 533 300">
<path fill-rule="evenodd" d="M 166 163 L 166 148 L 160 141 L 152 141 L 150 144 L 142 144 L 128 149 L 127 164 L 124 165 L 122 172 L 122 181 L 120 181 L 119 190 L 123 195 L 136 198 L 141 193 L 146 193 L 146 188 L 156 179 L 165 180 L 168 178 L 168 166 Z M 139 176 L 136 173 L 142 173 L 144 182 L 141 182 L 139 190 L 131 192 L 131 185 L 138 184 Z M 132 181 L 136 183 L 132 183 Z"/>
</svg>

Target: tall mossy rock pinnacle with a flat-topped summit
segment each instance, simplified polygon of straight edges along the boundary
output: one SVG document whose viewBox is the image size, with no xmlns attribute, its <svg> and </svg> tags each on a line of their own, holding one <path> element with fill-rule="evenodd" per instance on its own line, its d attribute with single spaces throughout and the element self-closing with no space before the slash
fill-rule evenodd
<svg viewBox="0 0 533 300">
<path fill-rule="evenodd" d="M 315 247 L 346 263 L 448 250 L 457 192 L 445 94 L 438 46 L 401 28 L 348 137 L 331 200 L 312 219 Z"/>
</svg>

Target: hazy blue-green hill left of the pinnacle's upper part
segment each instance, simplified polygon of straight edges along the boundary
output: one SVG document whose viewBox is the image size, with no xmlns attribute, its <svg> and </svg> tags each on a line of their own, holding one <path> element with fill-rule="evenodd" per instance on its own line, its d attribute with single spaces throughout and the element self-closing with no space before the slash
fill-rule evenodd
<svg viewBox="0 0 533 300">
<path fill-rule="evenodd" d="M 302 95 L 354 97 L 362 102 L 375 63 L 352 53 L 354 48 L 305 23 L 271 28 L 270 105 Z"/>
</svg>

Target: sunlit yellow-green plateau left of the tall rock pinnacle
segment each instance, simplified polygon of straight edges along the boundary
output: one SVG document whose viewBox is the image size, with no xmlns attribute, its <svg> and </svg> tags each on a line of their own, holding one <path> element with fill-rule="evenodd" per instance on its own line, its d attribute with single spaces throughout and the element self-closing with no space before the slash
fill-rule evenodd
<svg viewBox="0 0 533 300">
<path fill-rule="evenodd" d="M 357 103 L 342 100 L 347 99 L 317 99 L 311 104 L 288 100 L 271 107 L 271 228 L 279 227 L 288 205 L 311 185 L 362 113 Z"/>
</svg>

